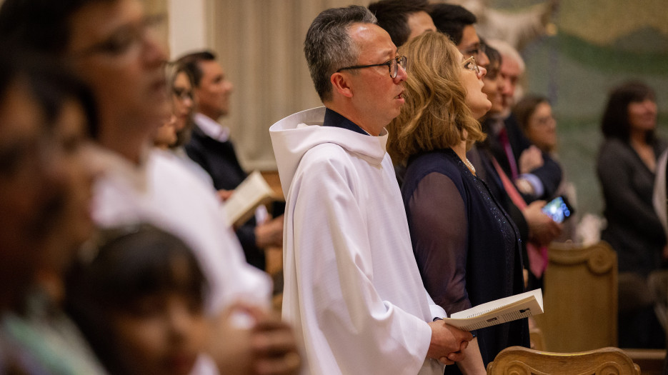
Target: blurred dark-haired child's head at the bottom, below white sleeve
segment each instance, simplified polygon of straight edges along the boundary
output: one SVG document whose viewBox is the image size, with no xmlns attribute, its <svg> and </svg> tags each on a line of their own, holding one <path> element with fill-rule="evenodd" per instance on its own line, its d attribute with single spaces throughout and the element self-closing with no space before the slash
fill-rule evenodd
<svg viewBox="0 0 668 375">
<path fill-rule="evenodd" d="M 111 374 L 188 374 L 206 333 L 206 281 L 193 254 L 152 226 L 101 237 L 69 275 L 71 316 Z"/>
</svg>

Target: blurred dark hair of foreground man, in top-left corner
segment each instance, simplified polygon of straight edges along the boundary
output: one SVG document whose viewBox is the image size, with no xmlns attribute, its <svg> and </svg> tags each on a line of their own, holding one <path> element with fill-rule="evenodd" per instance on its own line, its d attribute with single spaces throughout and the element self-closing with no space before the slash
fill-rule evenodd
<svg viewBox="0 0 668 375">
<path fill-rule="evenodd" d="M 0 39 L 61 55 L 69 44 L 71 16 L 87 4 L 112 1 L 118 0 L 4 0 Z"/>
</svg>

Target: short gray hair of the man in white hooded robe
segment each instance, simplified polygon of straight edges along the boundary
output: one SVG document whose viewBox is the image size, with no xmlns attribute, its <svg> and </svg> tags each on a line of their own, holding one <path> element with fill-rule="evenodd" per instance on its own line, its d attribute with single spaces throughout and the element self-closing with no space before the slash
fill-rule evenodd
<svg viewBox="0 0 668 375">
<path fill-rule="evenodd" d="M 304 40 L 304 55 L 321 101 L 331 100 L 329 78 L 345 66 L 355 65 L 359 49 L 348 34 L 352 24 L 376 24 L 364 6 L 351 5 L 322 11 L 313 20 Z"/>
</svg>

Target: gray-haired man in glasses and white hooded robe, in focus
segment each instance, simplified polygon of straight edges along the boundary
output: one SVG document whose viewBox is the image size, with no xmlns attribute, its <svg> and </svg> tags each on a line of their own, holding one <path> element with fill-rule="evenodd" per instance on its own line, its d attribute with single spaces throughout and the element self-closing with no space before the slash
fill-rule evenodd
<svg viewBox="0 0 668 375">
<path fill-rule="evenodd" d="M 283 317 L 304 374 L 443 374 L 472 335 L 422 285 L 384 126 L 406 60 L 362 6 L 323 11 L 304 52 L 325 108 L 270 128 L 286 196 Z"/>
</svg>

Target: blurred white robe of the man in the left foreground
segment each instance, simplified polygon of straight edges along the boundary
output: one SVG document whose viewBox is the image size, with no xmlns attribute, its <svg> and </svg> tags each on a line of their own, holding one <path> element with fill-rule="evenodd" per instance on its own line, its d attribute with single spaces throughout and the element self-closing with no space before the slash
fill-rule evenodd
<svg viewBox="0 0 668 375">
<path fill-rule="evenodd" d="M 212 185 L 168 151 L 151 150 L 140 166 L 110 151 L 103 155 L 93 201 L 98 225 L 149 222 L 183 239 L 209 283 L 211 314 L 238 300 L 269 307 L 271 281 L 246 263 Z"/>
</svg>

